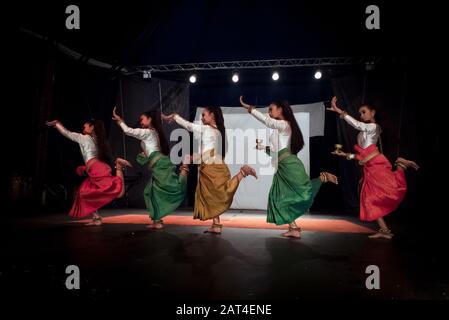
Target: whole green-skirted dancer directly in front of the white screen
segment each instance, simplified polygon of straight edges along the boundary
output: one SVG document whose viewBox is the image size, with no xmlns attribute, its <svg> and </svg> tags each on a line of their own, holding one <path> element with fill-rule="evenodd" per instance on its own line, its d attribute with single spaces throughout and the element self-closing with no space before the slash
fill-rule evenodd
<svg viewBox="0 0 449 320">
<path fill-rule="evenodd" d="M 320 177 L 310 180 L 297 153 L 304 146 L 301 130 L 287 102 L 273 102 L 268 107 L 268 115 L 257 111 L 254 106 L 243 102 L 241 105 L 268 128 L 274 129 L 270 136 L 270 146 L 261 147 L 277 160 L 277 170 L 273 176 L 268 196 L 267 222 L 276 225 L 288 224 L 284 237 L 301 237 L 301 229 L 295 220 L 312 206 L 321 184 L 337 184 L 337 177 L 321 172 Z M 277 159 L 276 159 L 277 158 Z"/>
</svg>

